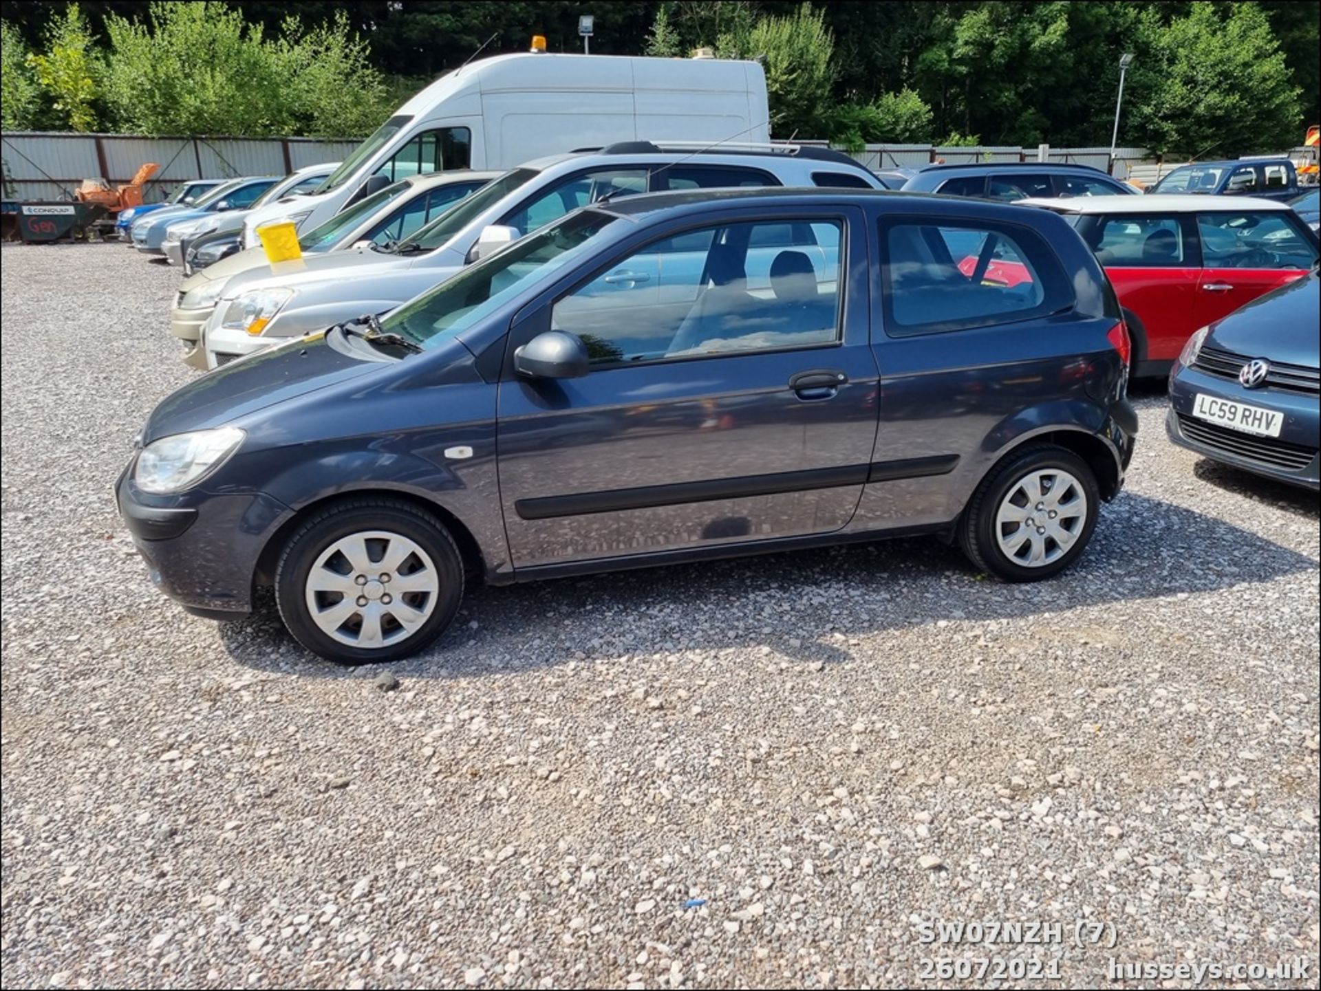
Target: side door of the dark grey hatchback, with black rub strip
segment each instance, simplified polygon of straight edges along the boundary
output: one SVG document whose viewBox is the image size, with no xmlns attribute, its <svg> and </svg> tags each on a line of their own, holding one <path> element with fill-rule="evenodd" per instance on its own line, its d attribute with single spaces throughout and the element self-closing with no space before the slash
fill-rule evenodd
<svg viewBox="0 0 1321 991">
<path fill-rule="evenodd" d="M 517 321 L 510 347 L 563 330 L 584 339 L 592 364 L 580 379 L 501 383 L 501 500 L 515 567 L 848 524 L 876 437 L 861 211 L 774 212 L 708 215 L 622 252 Z M 753 288 L 748 243 L 786 222 L 832 238 L 835 257 L 853 260 L 849 277 L 786 248 L 770 284 Z M 637 269 L 680 238 L 688 251 L 708 245 L 694 298 L 602 319 L 601 276 Z"/>
</svg>

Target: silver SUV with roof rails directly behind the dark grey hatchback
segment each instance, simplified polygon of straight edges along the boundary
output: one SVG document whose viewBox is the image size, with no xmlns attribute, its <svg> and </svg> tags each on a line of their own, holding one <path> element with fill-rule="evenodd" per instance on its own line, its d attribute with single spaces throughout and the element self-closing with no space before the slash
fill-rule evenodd
<svg viewBox="0 0 1321 991">
<path fill-rule="evenodd" d="M 802 145 L 686 148 L 626 141 L 539 158 L 505 173 L 411 238 L 238 273 L 202 329 L 215 368 L 283 338 L 392 310 L 464 265 L 580 206 L 638 193 L 715 187 L 881 189 L 848 156 Z M 639 278 L 646 273 L 637 273 Z"/>
</svg>

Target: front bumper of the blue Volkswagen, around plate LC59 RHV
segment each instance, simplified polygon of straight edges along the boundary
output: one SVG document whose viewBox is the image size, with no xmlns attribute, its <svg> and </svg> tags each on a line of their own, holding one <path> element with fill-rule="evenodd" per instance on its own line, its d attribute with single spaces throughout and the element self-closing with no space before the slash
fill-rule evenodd
<svg viewBox="0 0 1321 991">
<path fill-rule="evenodd" d="M 1279 438 L 1259 438 L 1206 424 L 1193 416 L 1194 397 L 1199 392 L 1231 402 L 1246 402 L 1280 412 L 1284 414 L 1284 429 Z M 1203 458 L 1318 491 L 1321 490 L 1318 429 L 1321 429 L 1321 404 L 1316 396 L 1273 388 L 1244 389 L 1236 381 L 1177 363 L 1170 373 L 1165 433 L 1173 443 Z"/>
</svg>

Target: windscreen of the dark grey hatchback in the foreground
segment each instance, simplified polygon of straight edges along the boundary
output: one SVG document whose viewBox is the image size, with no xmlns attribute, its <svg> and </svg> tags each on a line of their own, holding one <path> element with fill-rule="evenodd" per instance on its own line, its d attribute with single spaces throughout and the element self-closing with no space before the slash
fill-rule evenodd
<svg viewBox="0 0 1321 991">
<path fill-rule="evenodd" d="M 515 294 L 553 276 L 572 263 L 577 248 L 613 223 L 621 220 L 596 210 L 569 214 L 560 223 L 514 241 L 400 306 L 380 321 L 380 329 L 432 347 L 468 330 Z"/>
</svg>

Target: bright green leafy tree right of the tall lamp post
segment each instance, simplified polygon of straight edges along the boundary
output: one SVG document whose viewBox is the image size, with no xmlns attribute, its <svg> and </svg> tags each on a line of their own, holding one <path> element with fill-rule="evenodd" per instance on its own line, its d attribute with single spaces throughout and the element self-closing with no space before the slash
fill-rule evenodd
<svg viewBox="0 0 1321 991">
<path fill-rule="evenodd" d="M 1254 3 L 1198 0 L 1168 26 L 1144 12 L 1129 75 L 1125 136 L 1153 152 L 1235 156 L 1299 140 L 1300 91 Z"/>
</svg>

